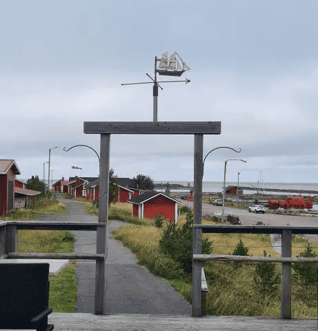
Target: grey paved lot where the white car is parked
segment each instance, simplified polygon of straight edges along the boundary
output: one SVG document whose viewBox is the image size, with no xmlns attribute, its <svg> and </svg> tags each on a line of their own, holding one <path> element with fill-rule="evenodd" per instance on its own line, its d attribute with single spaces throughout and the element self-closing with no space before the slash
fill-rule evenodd
<svg viewBox="0 0 318 331">
<path fill-rule="evenodd" d="M 181 200 L 181 205 L 186 205 L 187 207 L 193 209 L 192 201 Z M 222 212 L 222 206 L 219 205 L 209 205 L 208 203 L 202 204 L 202 214 L 214 214 L 215 212 Z M 262 221 L 266 224 L 271 225 L 287 225 L 288 223 L 292 226 L 308 226 L 310 228 L 318 227 L 318 217 L 315 216 L 291 216 L 291 215 L 279 215 L 279 214 L 254 214 L 248 212 L 248 210 L 239 208 L 228 208 L 224 210 L 225 214 L 234 214 L 239 217 L 241 223 L 245 225 L 252 225 L 257 221 Z M 317 234 L 308 234 L 306 237 L 308 239 L 318 242 Z"/>
</svg>

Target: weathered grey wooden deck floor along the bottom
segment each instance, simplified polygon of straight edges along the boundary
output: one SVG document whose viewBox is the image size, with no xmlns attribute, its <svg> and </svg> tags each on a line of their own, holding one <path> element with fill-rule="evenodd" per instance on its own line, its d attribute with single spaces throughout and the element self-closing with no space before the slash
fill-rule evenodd
<svg viewBox="0 0 318 331">
<path fill-rule="evenodd" d="M 48 322 L 57 331 L 90 330 L 317 330 L 317 319 L 272 319 L 270 317 L 191 317 L 181 315 L 52 313 Z"/>
</svg>

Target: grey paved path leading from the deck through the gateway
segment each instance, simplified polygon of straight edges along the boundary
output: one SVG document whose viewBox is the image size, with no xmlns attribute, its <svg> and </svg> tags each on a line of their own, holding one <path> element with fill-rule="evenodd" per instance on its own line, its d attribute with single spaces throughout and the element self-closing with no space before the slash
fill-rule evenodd
<svg viewBox="0 0 318 331">
<path fill-rule="evenodd" d="M 97 222 L 78 201 L 58 199 L 66 215 L 43 215 L 37 221 Z M 106 314 L 191 314 L 191 306 L 168 283 L 146 268 L 128 248 L 112 237 L 111 231 L 128 223 L 109 221 L 106 259 Z M 96 232 L 74 231 L 74 252 L 95 253 Z M 95 261 L 77 261 L 77 312 L 94 312 Z"/>
</svg>

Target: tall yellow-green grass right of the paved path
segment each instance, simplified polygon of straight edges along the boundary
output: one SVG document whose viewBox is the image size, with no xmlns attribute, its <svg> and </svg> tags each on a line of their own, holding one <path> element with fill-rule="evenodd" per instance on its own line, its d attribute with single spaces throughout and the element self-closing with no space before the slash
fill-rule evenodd
<svg viewBox="0 0 318 331">
<path fill-rule="evenodd" d="M 118 211 L 119 212 L 119 211 Z M 182 215 L 178 225 L 185 222 Z M 213 223 L 205 222 L 205 223 Z M 166 227 L 164 225 L 163 229 Z M 181 266 L 165 257 L 159 250 L 158 241 L 163 229 L 154 225 L 132 225 L 113 231 L 115 239 L 121 240 L 130 250 L 135 252 L 138 263 L 145 265 L 150 272 L 167 279 L 175 290 L 191 303 L 191 276 L 181 270 Z M 203 234 L 213 243 L 215 254 L 232 254 L 235 245 L 241 239 L 248 247 L 248 253 L 263 256 L 264 250 L 272 257 L 279 254 L 273 250 L 268 234 Z M 294 237 L 292 240 L 292 255 L 296 256 L 306 247 L 307 240 Z M 317 250 L 317 248 L 315 248 Z M 232 316 L 281 316 L 281 289 L 272 294 L 261 292 L 254 278 L 255 264 L 244 263 L 237 268 L 234 263 L 206 261 L 202 263 L 206 274 L 209 292 L 206 297 L 206 312 L 213 315 Z M 280 263 L 276 263 L 276 272 L 281 274 Z M 293 317 L 317 317 L 317 288 L 308 292 L 304 299 L 304 290 L 293 273 L 292 277 L 292 314 Z M 311 293 L 311 294 L 310 294 Z"/>
</svg>

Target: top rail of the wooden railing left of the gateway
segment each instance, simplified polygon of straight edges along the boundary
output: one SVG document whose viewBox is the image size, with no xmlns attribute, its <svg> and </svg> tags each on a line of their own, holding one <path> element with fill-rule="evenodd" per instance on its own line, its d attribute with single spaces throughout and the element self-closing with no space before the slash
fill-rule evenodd
<svg viewBox="0 0 318 331">
<path fill-rule="evenodd" d="M 96 231 L 99 226 L 106 226 L 106 223 L 89 222 L 37 222 L 37 221 L 8 221 L 18 230 L 72 230 L 72 231 Z"/>
</svg>

